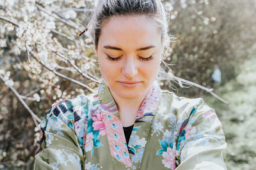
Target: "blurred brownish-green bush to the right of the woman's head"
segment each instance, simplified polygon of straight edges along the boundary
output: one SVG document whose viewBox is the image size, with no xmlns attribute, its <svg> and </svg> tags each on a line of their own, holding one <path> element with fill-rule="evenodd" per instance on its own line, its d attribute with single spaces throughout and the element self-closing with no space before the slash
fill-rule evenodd
<svg viewBox="0 0 256 170">
<path fill-rule="evenodd" d="M 256 24 L 252 20 L 255 12 L 250 13 L 255 5 L 253 1 L 193 1 L 187 2 L 185 9 L 180 8 L 181 1 L 170 2 L 173 4 L 170 34 L 179 38 L 166 59 L 166 62 L 175 64 L 173 74 L 214 88 L 219 86 L 211 78 L 214 66 L 221 71 L 221 85 L 235 78 L 237 65 L 246 59 L 248 48 L 255 41 L 252 38 L 255 38 L 255 31 L 250 26 Z M 198 88 L 175 86 L 180 96 L 204 94 Z"/>
</svg>

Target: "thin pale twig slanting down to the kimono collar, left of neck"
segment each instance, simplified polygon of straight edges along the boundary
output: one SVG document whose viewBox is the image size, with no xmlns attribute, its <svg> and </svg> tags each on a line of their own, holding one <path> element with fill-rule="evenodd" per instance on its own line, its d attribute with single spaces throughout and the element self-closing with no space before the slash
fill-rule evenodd
<svg viewBox="0 0 256 170">
<path fill-rule="evenodd" d="M 69 81 L 72 81 L 74 83 L 76 83 L 77 85 L 81 85 L 82 87 L 85 87 L 86 89 L 88 89 L 90 92 L 95 93 L 95 90 L 93 90 L 92 88 L 88 87 L 88 85 L 84 85 L 84 83 L 81 83 L 80 81 L 74 80 L 73 78 L 69 78 L 68 76 L 65 76 L 64 74 L 58 73 L 58 71 L 56 71 L 55 69 L 52 69 L 51 67 L 47 66 L 46 64 L 44 64 L 43 62 L 41 62 L 40 60 L 38 60 L 35 57 L 35 54 L 33 52 L 31 52 L 33 55 L 32 57 L 39 62 L 40 64 L 42 64 L 42 66 L 44 66 L 46 69 L 48 69 L 49 71 L 52 71 L 52 73 L 56 74 L 57 76 L 60 76 L 62 78 L 65 78 Z"/>
</svg>

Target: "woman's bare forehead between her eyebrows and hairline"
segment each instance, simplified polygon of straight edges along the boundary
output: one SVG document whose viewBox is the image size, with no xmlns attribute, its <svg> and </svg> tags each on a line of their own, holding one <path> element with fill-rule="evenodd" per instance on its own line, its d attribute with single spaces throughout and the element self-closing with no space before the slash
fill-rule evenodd
<svg viewBox="0 0 256 170">
<path fill-rule="evenodd" d="M 115 16 L 102 25 L 99 43 L 106 45 L 147 45 L 161 42 L 156 22 L 145 15 Z M 105 43 L 105 44 L 104 44 Z"/>
</svg>

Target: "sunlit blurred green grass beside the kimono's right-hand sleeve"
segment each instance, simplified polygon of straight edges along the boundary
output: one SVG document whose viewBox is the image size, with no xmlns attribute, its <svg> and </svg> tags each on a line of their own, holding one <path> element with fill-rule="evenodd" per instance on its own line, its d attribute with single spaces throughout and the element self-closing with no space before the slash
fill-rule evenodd
<svg viewBox="0 0 256 170">
<path fill-rule="evenodd" d="M 256 166 L 256 44 L 248 51 L 248 60 L 241 64 L 236 79 L 218 89 L 228 105 L 214 101 L 207 103 L 218 113 L 227 140 L 223 153 L 228 169 L 255 169 Z"/>
</svg>

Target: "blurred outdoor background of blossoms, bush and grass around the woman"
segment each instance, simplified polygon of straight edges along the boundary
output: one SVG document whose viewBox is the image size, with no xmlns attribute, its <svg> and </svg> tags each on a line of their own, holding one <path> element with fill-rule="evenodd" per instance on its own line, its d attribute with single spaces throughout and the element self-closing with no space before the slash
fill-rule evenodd
<svg viewBox="0 0 256 170">
<path fill-rule="evenodd" d="M 207 90 L 161 84 L 178 96 L 202 97 L 223 124 L 227 169 L 256 166 L 256 1 L 163 1 L 173 75 Z M 79 33 L 92 0 L 0 1 L 0 169 L 33 169 L 38 125 L 52 104 L 90 94 L 99 66 L 90 39 Z M 167 67 L 164 67 L 168 71 Z M 185 86 L 185 85 L 184 85 Z M 227 103 L 228 104 L 227 104 Z"/>
</svg>

